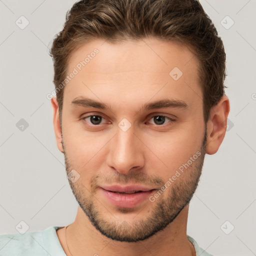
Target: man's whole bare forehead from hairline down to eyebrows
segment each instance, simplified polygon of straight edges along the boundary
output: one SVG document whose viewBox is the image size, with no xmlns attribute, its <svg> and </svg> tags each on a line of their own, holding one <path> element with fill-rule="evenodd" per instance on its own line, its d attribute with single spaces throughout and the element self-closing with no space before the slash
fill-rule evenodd
<svg viewBox="0 0 256 256">
<path fill-rule="evenodd" d="M 159 97 L 168 93 L 184 100 L 191 100 L 191 95 L 199 99 L 198 64 L 188 47 L 172 41 L 151 37 L 109 43 L 96 39 L 72 52 L 67 74 L 74 70 L 76 74 L 66 84 L 64 98 L 91 94 L 89 88 L 93 88 L 99 98 L 115 94 L 124 100 L 125 95 L 135 93 L 149 100 L 159 91 Z"/>
</svg>

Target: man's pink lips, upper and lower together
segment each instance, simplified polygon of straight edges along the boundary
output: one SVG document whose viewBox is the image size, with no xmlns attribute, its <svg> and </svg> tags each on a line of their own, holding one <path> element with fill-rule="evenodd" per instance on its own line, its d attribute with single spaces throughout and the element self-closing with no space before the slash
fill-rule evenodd
<svg viewBox="0 0 256 256">
<path fill-rule="evenodd" d="M 103 185 L 101 191 L 108 201 L 117 207 L 131 208 L 149 197 L 154 188 L 141 185 Z M 139 191 L 139 192 L 134 192 Z M 121 192 L 121 193 L 119 193 Z"/>
</svg>

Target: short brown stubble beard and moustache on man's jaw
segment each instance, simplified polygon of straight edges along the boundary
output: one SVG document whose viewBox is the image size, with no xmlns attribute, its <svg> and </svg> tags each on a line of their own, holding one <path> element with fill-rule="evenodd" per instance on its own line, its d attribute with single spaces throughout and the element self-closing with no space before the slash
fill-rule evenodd
<svg viewBox="0 0 256 256">
<path fill-rule="evenodd" d="M 128 223 L 127 221 L 118 222 L 118 219 L 113 216 L 114 214 L 109 213 L 111 210 L 106 210 L 103 204 L 95 199 L 95 193 L 98 189 L 98 176 L 92 177 L 89 189 L 85 188 L 79 180 L 74 183 L 69 180 L 70 187 L 89 221 L 101 234 L 112 240 L 124 242 L 136 242 L 147 239 L 170 224 L 191 200 L 201 175 L 206 138 L 207 131 L 205 129 L 201 148 L 198 150 L 201 153 L 200 156 L 166 189 L 165 192 L 168 193 L 167 198 L 160 195 L 154 202 L 148 201 L 154 205 L 150 210 L 150 215 L 138 219 L 140 216 L 138 213 L 136 215 L 137 220 L 134 220 L 132 223 Z M 64 149 L 63 141 L 62 145 Z M 65 168 L 68 173 L 73 165 L 68 160 L 65 150 L 63 153 L 65 158 Z M 166 183 L 166 181 L 163 182 L 160 178 L 151 178 L 138 171 L 131 172 L 128 176 L 119 172 L 115 174 L 114 178 L 111 177 L 108 180 L 112 180 L 112 182 L 122 181 L 122 183 L 140 181 L 140 184 L 153 183 L 157 184 L 157 186 L 159 186 L 160 183 L 162 185 Z M 123 214 L 130 211 L 130 209 L 127 208 L 118 208 L 117 210 Z M 106 217 L 106 214 L 108 214 L 109 217 Z"/>
</svg>

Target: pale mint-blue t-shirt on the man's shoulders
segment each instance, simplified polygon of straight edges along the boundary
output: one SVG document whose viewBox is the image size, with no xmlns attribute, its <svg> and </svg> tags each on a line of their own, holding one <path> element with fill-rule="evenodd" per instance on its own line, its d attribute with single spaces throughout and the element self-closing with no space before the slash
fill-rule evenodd
<svg viewBox="0 0 256 256">
<path fill-rule="evenodd" d="M 0 256 L 66 256 L 57 237 L 58 228 L 51 226 L 24 234 L 1 234 Z M 187 238 L 194 245 L 196 256 L 212 256 L 200 248 L 192 237 L 187 235 Z"/>
</svg>

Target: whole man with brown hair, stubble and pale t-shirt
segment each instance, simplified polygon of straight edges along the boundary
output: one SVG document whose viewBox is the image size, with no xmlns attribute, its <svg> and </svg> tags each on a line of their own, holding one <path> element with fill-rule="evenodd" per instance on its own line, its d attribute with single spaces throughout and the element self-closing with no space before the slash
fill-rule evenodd
<svg viewBox="0 0 256 256">
<path fill-rule="evenodd" d="M 188 206 L 229 101 L 223 44 L 200 3 L 79 1 L 51 56 L 53 125 L 77 215 L 1 235 L 0 253 L 210 255 L 186 234 Z"/>
</svg>

